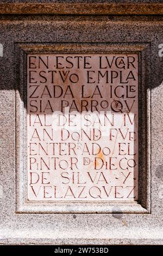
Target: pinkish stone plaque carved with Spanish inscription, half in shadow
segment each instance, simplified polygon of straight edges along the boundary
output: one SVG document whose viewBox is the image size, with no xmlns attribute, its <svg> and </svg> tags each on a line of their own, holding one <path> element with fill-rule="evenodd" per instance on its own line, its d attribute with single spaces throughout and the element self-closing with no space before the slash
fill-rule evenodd
<svg viewBox="0 0 163 256">
<path fill-rule="evenodd" d="M 137 200 L 137 54 L 27 59 L 28 200 Z"/>
</svg>

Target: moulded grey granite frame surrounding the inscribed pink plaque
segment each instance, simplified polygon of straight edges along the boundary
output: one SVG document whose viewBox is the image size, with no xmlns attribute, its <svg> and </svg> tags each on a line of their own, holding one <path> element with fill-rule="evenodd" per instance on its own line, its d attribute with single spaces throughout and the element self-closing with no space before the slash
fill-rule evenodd
<svg viewBox="0 0 163 256">
<path fill-rule="evenodd" d="M 151 213 L 151 95 L 147 89 L 149 42 L 15 42 L 16 213 L 24 214 L 150 214 Z M 27 54 L 137 53 L 139 55 L 139 201 L 29 202 L 27 201 Z"/>
</svg>

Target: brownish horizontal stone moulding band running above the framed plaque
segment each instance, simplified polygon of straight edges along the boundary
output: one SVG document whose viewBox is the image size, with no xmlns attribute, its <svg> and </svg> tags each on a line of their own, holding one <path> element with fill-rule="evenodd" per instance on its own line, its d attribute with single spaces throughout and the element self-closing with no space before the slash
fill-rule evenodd
<svg viewBox="0 0 163 256">
<path fill-rule="evenodd" d="M 0 14 L 161 15 L 162 3 L 3 3 Z"/>
</svg>

